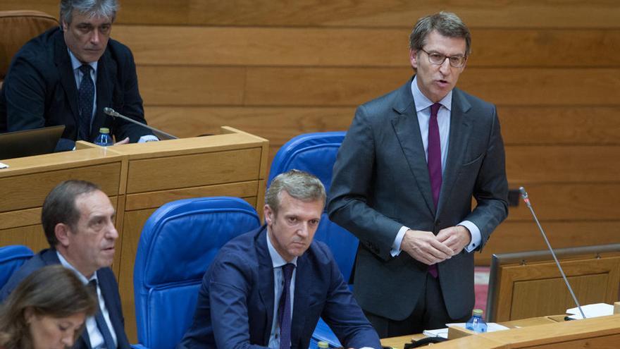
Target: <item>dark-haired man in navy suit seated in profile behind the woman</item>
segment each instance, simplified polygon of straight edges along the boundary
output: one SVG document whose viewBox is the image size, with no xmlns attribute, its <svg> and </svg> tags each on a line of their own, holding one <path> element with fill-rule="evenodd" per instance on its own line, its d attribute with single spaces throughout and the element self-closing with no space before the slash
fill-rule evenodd
<svg viewBox="0 0 620 349">
<path fill-rule="evenodd" d="M 42 209 L 45 237 L 51 248 L 25 262 L 0 290 L 0 301 L 32 271 L 62 264 L 75 271 L 99 300 L 99 311 L 86 319 L 86 330 L 73 348 L 130 348 L 120 308 L 118 284 L 110 266 L 118 232 L 108 196 L 93 183 L 67 180 L 51 190 Z"/>
</svg>

